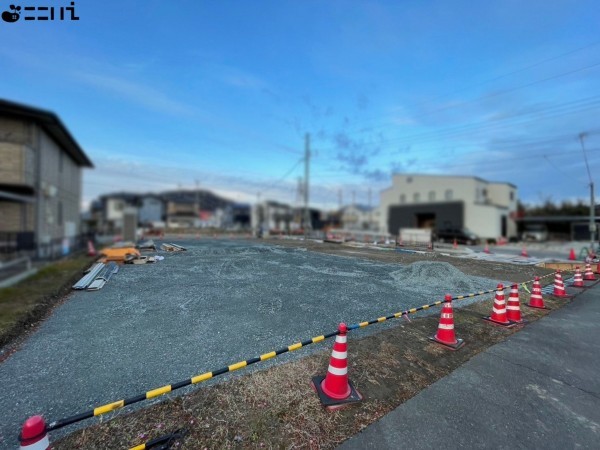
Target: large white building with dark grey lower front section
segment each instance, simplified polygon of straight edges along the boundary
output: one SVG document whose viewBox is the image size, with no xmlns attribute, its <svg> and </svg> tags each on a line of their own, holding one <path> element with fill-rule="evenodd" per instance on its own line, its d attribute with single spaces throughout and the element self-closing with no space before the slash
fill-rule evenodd
<svg viewBox="0 0 600 450">
<path fill-rule="evenodd" d="M 481 238 L 516 237 L 517 187 L 478 177 L 394 174 L 380 194 L 379 226 L 468 228 Z"/>
</svg>

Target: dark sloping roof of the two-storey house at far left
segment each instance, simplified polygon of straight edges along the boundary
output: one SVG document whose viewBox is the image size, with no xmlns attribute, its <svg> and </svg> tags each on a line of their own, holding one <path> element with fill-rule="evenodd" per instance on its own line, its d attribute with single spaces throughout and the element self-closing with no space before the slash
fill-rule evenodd
<svg viewBox="0 0 600 450">
<path fill-rule="evenodd" d="M 60 118 L 51 111 L 0 99 L 0 116 L 31 120 L 42 127 L 82 167 L 94 167 Z"/>
</svg>

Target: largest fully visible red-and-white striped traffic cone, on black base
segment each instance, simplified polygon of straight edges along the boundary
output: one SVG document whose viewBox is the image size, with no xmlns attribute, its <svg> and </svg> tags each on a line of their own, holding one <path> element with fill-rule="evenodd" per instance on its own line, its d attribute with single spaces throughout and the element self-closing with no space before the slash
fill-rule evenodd
<svg viewBox="0 0 600 450">
<path fill-rule="evenodd" d="M 348 379 L 348 345 L 346 344 L 348 327 L 345 323 L 340 323 L 338 331 L 327 375 L 312 379 L 313 388 L 317 391 L 321 403 L 330 410 L 362 400 L 362 395 Z"/>
</svg>

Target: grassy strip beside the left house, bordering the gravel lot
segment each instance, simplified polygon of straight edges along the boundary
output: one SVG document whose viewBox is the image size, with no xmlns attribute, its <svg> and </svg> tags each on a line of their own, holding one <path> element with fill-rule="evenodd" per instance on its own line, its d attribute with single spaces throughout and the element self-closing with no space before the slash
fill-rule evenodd
<svg viewBox="0 0 600 450">
<path fill-rule="evenodd" d="M 53 300 L 66 292 L 91 260 L 74 256 L 57 261 L 14 286 L 0 289 L 0 345 L 15 334 L 15 327 L 35 321 Z"/>
</svg>

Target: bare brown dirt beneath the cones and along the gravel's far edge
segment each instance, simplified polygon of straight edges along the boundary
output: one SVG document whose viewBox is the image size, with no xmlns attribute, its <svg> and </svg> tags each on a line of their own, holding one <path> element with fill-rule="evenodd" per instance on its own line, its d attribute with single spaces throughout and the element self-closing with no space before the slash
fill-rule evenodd
<svg viewBox="0 0 600 450">
<path fill-rule="evenodd" d="M 302 241 L 272 242 L 389 263 L 446 261 L 466 274 L 515 282 L 550 273 L 533 266 L 436 254 L 412 255 Z M 545 278 L 546 284 L 551 281 Z M 437 315 L 410 321 L 396 319 L 395 327 L 361 339 L 353 339 L 350 333 L 349 376 L 364 400 L 345 409 L 324 410 L 310 385 L 311 377 L 326 373 L 330 357 L 327 350 L 217 385 L 199 386 L 186 396 L 169 394 L 162 402 L 133 413 L 127 408 L 116 411 L 103 417 L 101 423 L 55 442 L 53 448 L 126 448 L 178 429 L 185 429 L 187 436 L 176 441 L 173 448 L 334 448 L 477 353 L 518 332 L 519 327 L 505 329 L 483 321 L 481 317 L 489 315 L 492 307 L 491 295 L 484 298 L 455 309 L 457 335 L 466 341 L 456 352 L 428 340 L 437 329 Z M 522 305 L 528 299 L 529 294 L 522 290 Z M 545 302 L 549 310 L 522 307 L 524 317 L 535 321 L 567 300 L 548 296 Z"/>
</svg>

